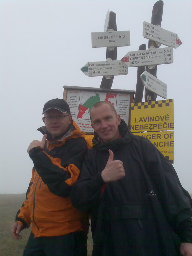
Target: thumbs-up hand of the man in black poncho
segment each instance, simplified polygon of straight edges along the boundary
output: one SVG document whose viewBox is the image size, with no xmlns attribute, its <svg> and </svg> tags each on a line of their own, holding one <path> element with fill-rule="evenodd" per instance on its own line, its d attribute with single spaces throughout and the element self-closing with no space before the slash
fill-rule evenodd
<svg viewBox="0 0 192 256">
<path fill-rule="evenodd" d="M 101 172 L 101 177 L 105 182 L 120 180 L 125 176 L 123 162 L 113 160 L 113 151 L 109 149 L 109 159 L 105 169 Z"/>
</svg>

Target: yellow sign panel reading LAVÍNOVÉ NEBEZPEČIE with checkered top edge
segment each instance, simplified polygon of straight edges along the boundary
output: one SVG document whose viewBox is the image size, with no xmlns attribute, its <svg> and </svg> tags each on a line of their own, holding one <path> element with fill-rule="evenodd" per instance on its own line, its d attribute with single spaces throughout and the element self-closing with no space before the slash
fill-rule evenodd
<svg viewBox="0 0 192 256">
<path fill-rule="evenodd" d="M 131 104 L 131 131 L 174 130 L 173 99 Z"/>
</svg>

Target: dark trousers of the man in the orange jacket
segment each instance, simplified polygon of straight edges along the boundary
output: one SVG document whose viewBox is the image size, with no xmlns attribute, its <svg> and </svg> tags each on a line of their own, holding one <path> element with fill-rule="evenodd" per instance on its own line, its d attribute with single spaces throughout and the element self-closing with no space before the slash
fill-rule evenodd
<svg viewBox="0 0 192 256">
<path fill-rule="evenodd" d="M 23 256 L 87 256 L 87 234 L 34 237 L 30 234 Z"/>
</svg>

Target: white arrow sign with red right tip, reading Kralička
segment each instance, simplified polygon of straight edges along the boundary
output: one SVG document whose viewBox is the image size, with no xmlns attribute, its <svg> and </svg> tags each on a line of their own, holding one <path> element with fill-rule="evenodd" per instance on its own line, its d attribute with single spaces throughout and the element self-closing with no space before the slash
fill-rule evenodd
<svg viewBox="0 0 192 256">
<path fill-rule="evenodd" d="M 160 44 L 179 47 L 182 42 L 178 35 L 146 21 L 143 22 L 143 36 Z"/>
</svg>

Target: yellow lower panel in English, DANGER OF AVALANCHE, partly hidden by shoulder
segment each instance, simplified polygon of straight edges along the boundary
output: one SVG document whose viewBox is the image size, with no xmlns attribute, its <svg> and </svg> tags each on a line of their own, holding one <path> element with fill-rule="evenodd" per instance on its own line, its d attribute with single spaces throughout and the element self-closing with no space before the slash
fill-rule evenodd
<svg viewBox="0 0 192 256">
<path fill-rule="evenodd" d="M 165 158 L 174 163 L 174 131 L 133 133 L 150 140 Z"/>
</svg>

